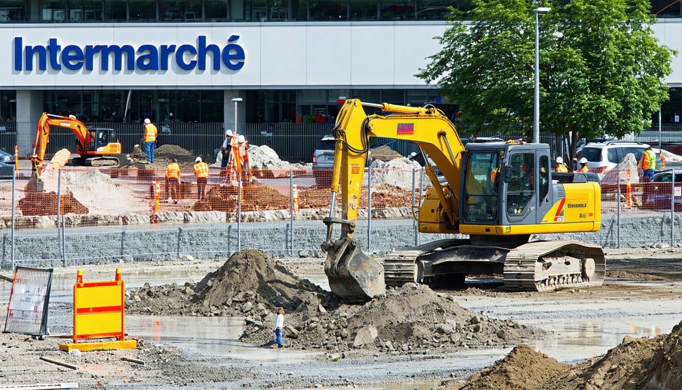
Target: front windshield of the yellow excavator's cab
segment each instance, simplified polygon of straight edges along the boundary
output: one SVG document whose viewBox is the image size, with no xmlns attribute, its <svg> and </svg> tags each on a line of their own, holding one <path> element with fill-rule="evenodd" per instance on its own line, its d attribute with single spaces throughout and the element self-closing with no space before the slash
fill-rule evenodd
<svg viewBox="0 0 682 390">
<path fill-rule="evenodd" d="M 497 221 L 499 160 L 496 153 L 469 154 L 464 182 L 466 221 Z"/>
</svg>

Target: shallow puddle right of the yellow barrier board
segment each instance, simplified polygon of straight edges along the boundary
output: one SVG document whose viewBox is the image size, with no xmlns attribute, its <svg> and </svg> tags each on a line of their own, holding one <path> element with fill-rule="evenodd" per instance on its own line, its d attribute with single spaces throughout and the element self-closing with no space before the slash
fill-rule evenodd
<svg viewBox="0 0 682 390">
<path fill-rule="evenodd" d="M 125 316 L 128 335 L 200 352 L 258 362 L 310 360 L 321 352 L 261 348 L 239 342 L 243 318 Z M 273 333 L 274 337 L 274 333 Z M 286 345 L 286 344 L 285 344 Z"/>
</svg>

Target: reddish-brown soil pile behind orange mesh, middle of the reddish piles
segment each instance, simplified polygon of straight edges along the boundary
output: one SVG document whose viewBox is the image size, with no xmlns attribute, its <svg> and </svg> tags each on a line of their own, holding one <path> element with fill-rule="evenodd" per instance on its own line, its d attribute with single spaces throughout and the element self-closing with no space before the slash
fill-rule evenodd
<svg viewBox="0 0 682 390">
<path fill-rule="evenodd" d="M 282 210 L 291 207 L 288 196 L 267 184 L 254 181 L 241 189 L 241 211 Z M 190 210 L 237 212 L 238 195 L 238 186 L 214 186 L 207 193 L 206 199 L 196 201 Z"/>
</svg>

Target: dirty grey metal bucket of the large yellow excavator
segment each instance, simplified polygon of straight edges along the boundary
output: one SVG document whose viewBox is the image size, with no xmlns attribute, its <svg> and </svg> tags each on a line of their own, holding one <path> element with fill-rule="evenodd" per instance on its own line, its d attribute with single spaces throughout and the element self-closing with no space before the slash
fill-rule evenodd
<svg viewBox="0 0 682 390">
<path fill-rule="evenodd" d="M 344 303 L 366 303 L 386 294 L 383 264 L 363 253 L 359 242 L 342 238 L 323 249 L 329 287 Z"/>
</svg>

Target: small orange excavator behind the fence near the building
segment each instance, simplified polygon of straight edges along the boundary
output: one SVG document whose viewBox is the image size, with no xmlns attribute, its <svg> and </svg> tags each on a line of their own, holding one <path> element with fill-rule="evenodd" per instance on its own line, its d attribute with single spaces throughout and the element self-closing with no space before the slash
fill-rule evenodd
<svg viewBox="0 0 682 390">
<path fill-rule="evenodd" d="M 33 155 L 31 156 L 31 179 L 27 189 L 33 192 L 43 190 L 40 174 L 43 169 L 45 151 L 50 142 L 50 126 L 61 126 L 70 128 L 76 135 L 76 153 L 70 162 L 72 165 L 91 165 L 91 166 L 118 166 L 121 154 L 121 143 L 116 137 L 116 130 L 111 128 L 87 128 L 83 122 L 76 119 L 74 115 L 68 117 L 43 113 L 38 121 L 35 131 L 35 142 L 33 143 Z"/>
</svg>

